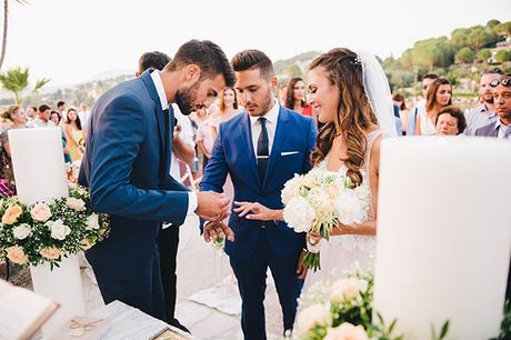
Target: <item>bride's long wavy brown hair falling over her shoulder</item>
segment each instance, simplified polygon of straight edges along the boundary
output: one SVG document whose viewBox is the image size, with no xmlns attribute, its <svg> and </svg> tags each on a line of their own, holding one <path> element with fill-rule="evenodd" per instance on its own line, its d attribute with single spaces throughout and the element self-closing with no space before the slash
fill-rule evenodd
<svg viewBox="0 0 511 340">
<path fill-rule="evenodd" d="M 363 88 L 362 64 L 357 53 L 347 48 L 337 48 L 315 58 L 309 70 L 322 67 L 329 73 L 332 86 L 339 89 L 339 106 L 335 122 L 327 123 L 319 132 L 315 149 L 311 154 L 312 164 L 321 162 L 332 147 L 338 132 L 347 147 L 347 157 L 341 159 L 348 168 L 347 176 L 353 187 L 363 181 L 360 169 L 367 151 L 367 132 L 371 124 L 378 124 Z"/>
</svg>

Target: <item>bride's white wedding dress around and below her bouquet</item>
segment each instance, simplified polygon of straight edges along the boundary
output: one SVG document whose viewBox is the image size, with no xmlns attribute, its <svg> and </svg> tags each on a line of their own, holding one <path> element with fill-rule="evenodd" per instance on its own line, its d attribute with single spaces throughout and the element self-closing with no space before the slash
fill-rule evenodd
<svg viewBox="0 0 511 340">
<path fill-rule="evenodd" d="M 377 129 L 367 136 L 368 148 L 364 156 L 364 164 L 361 169 L 363 176 L 361 186 L 367 186 L 369 192 L 371 192 L 369 177 L 371 148 L 374 140 L 381 136 L 381 130 Z M 317 167 L 319 169 L 325 169 L 327 159 L 328 156 Z M 338 171 L 344 174 L 347 168 L 342 166 Z M 371 220 L 373 217 L 371 194 L 368 197 L 368 204 L 371 207 L 368 220 Z M 375 244 L 377 239 L 373 236 L 345 234 L 330 237 L 329 241 L 322 239 L 320 248 L 321 269 L 315 272 L 309 270 L 302 291 L 307 292 L 308 289 L 318 281 L 334 281 L 345 277 L 344 271 L 350 270 L 354 263 L 358 263 L 361 269 L 372 269 Z"/>
</svg>

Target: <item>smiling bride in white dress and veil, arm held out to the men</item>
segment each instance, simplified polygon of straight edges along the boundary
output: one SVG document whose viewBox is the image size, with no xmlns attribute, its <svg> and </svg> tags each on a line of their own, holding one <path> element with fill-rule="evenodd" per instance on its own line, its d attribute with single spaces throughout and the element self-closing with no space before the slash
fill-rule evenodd
<svg viewBox="0 0 511 340">
<path fill-rule="evenodd" d="M 333 280 L 358 262 L 370 269 L 377 233 L 377 202 L 382 136 L 395 136 L 392 99 L 387 77 L 374 56 L 337 48 L 315 58 L 309 67 L 311 106 L 324 123 L 311 156 L 314 168 L 339 171 L 353 186 L 365 186 L 371 193 L 367 221 L 338 226 L 329 241 L 309 233 L 307 242 L 321 242 L 321 270 L 307 276 L 305 286 Z M 240 217 L 283 220 L 282 210 L 260 203 L 236 202 Z"/>
</svg>

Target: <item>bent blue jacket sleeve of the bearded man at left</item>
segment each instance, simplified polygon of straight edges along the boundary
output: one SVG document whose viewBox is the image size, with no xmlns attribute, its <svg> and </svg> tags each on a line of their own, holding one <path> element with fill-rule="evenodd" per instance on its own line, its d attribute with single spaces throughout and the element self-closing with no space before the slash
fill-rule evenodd
<svg viewBox="0 0 511 340">
<path fill-rule="evenodd" d="M 181 226 L 187 216 L 188 192 L 141 189 L 130 181 L 148 133 L 140 100 L 118 97 L 106 106 L 98 119 L 89 183 L 93 210 Z"/>
</svg>

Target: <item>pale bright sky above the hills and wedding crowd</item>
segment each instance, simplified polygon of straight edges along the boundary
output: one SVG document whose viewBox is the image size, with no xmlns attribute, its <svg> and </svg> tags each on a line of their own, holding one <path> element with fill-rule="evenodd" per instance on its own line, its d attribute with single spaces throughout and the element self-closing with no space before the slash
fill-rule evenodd
<svg viewBox="0 0 511 340">
<path fill-rule="evenodd" d="M 334 47 L 399 57 L 417 40 L 460 27 L 511 20 L 510 0 L 28 0 L 10 2 L 2 71 L 22 66 L 31 82 L 84 82 L 133 70 L 140 54 L 172 56 L 210 39 L 231 58 L 255 48 L 273 61 Z"/>
</svg>

